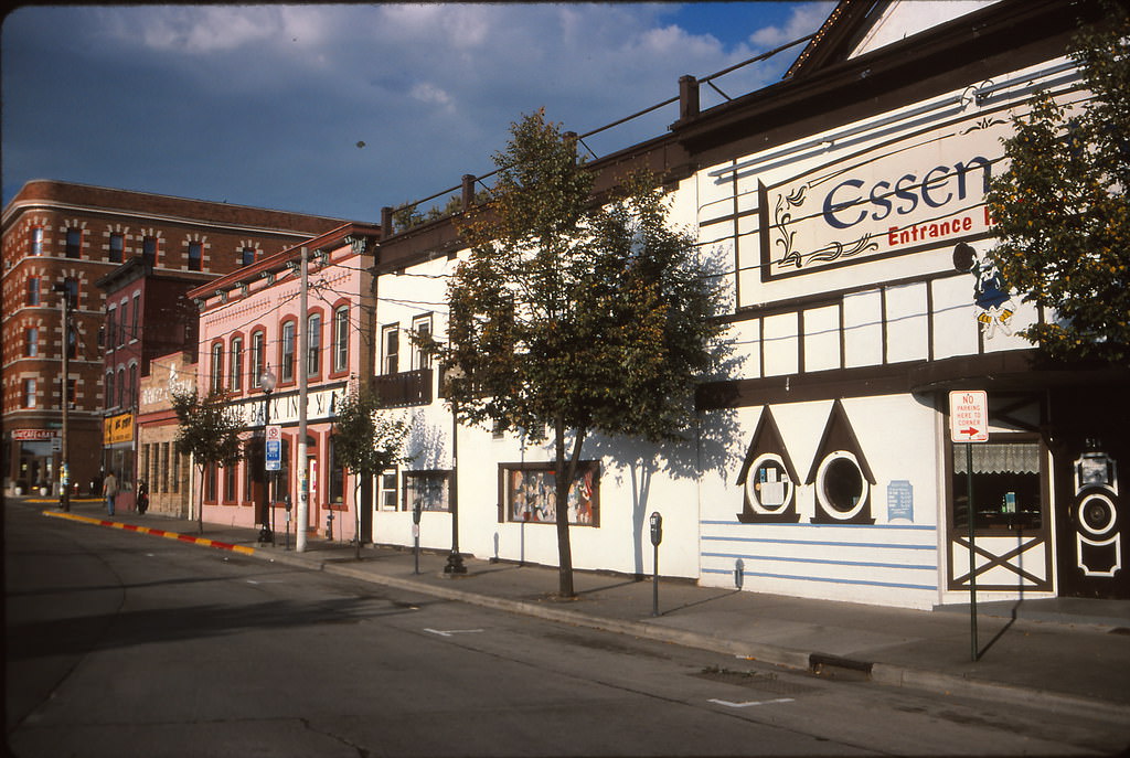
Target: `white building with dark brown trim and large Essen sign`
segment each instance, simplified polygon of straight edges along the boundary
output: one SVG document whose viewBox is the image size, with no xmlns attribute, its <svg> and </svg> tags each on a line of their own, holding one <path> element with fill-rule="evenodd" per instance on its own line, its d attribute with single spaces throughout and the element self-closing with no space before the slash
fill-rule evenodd
<svg viewBox="0 0 1130 758">
<path fill-rule="evenodd" d="M 1086 107 L 1064 51 L 1097 6 L 937 3 L 946 23 L 923 24 L 923 5 L 841 3 L 784 81 L 699 112 L 685 78 L 671 134 L 592 162 L 598 190 L 659 174 L 725 263 L 730 359 L 686 444 L 586 442 L 577 568 L 650 573 L 658 512 L 662 573 L 710 586 L 931 608 L 975 575 L 990 599 L 1130 596 L 1127 373 L 1042 360 L 1017 331 L 1055 314 L 985 258 L 1001 139 L 1036 92 Z M 374 540 L 411 544 L 420 500 L 421 544 L 449 548 L 457 469 L 463 552 L 555 565 L 549 445 L 453 427 L 408 338 L 442 339 L 464 252 L 447 221 L 381 245 L 376 382 L 415 387 L 390 411 L 414 419 L 414 458 L 381 478 Z M 985 442 L 950 422 L 970 392 Z"/>
</svg>

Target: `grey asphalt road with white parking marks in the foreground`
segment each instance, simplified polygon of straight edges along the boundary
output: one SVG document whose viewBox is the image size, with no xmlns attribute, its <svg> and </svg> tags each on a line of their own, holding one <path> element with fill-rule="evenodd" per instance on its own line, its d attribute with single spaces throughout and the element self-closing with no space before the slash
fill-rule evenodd
<svg viewBox="0 0 1130 758">
<path fill-rule="evenodd" d="M 5 513 L 7 738 L 43 756 L 1114 755 L 1124 725 L 820 679 Z"/>
</svg>

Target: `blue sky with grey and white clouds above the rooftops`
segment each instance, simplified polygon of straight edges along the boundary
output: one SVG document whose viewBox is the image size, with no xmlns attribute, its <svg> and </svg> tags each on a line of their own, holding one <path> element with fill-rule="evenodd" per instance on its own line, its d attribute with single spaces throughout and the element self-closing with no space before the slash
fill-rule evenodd
<svg viewBox="0 0 1130 758">
<path fill-rule="evenodd" d="M 584 134 L 834 6 L 25 6 L 0 38 L 3 204 L 51 178 L 376 223 L 492 172 L 522 114 Z M 715 84 L 759 89 L 801 49 Z M 702 88 L 704 108 L 721 102 Z M 677 107 L 584 142 L 603 156 L 661 136 Z"/>
</svg>

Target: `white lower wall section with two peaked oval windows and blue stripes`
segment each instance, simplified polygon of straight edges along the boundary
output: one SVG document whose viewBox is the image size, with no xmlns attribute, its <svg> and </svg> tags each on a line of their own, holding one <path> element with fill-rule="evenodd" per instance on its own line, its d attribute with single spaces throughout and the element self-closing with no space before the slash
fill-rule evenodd
<svg viewBox="0 0 1130 758">
<path fill-rule="evenodd" d="M 734 586 L 740 573 L 757 592 L 937 602 L 945 555 L 930 406 L 910 395 L 786 403 L 741 409 L 737 421 L 741 467 L 701 482 L 704 584 Z"/>
</svg>

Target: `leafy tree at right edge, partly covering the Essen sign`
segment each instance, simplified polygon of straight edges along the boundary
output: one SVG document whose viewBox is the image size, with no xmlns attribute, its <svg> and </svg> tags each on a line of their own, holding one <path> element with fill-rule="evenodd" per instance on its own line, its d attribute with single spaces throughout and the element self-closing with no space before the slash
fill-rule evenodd
<svg viewBox="0 0 1130 758">
<path fill-rule="evenodd" d="M 1010 165 L 988 193 L 991 260 L 1025 302 L 1058 315 L 1020 334 L 1060 359 L 1130 363 L 1128 35 L 1127 10 L 1111 3 L 1104 29 L 1076 36 L 1093 99 L 1078 110 L 1038 95 L 1014 120 Z"/>
</svg>

